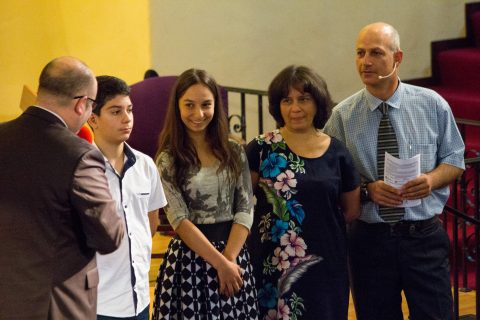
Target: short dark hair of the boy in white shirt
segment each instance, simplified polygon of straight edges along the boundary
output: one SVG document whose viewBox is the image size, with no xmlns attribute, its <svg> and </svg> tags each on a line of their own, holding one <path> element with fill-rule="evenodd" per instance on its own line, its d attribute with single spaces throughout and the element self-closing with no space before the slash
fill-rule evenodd
<svg viewBox="0 0 480 320">
<path fill-rule="evenodd" d="M 100 115 L 102 107 L 117 95 L 130 96 L 130 87 L 128 84 L 117 77 L 98 76 L 98 91 L 95 98 L 95 108 L 93 113 Z"/>
</svg>

